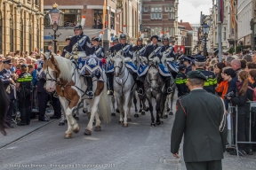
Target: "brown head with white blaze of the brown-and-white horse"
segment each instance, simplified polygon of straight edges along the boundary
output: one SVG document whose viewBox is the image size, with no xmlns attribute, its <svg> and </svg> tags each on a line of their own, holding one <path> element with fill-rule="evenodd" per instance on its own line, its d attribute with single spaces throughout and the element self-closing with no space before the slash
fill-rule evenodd
<svg viewBox="0 0 256 170">
<path fill-rule="evenodd" d="M 44 73 L 46 74 L 45 89 L 48 92 L 53 92 L 56 89 L 57 79 L 60 76 L 60 68 L 53 55 L 44 55 Z"/>
</svg>

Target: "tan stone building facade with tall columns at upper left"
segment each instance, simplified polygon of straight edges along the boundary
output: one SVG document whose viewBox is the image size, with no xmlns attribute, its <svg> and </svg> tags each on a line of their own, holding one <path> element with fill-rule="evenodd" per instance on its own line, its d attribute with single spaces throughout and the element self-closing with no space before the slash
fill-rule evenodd
<svg viewBox="0 0 256 170">
<path fill-rule="evenodd" d="M 43 48 L 43 0 L 0 0 L 0 9 L 0 53 Z"/>
</svg>

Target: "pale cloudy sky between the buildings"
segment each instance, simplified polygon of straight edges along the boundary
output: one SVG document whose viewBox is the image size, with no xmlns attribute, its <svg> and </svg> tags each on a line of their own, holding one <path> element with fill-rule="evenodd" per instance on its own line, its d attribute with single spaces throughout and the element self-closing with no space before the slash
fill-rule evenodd
<svg viewBox="0 0 256 170">
<path fill-rule="evenodd" d="M 200 13 L 210 14 L 210 8 L 212 8 L 212 0 L 179 0 L 178 20 L 200 24 Z"/>
</svg>

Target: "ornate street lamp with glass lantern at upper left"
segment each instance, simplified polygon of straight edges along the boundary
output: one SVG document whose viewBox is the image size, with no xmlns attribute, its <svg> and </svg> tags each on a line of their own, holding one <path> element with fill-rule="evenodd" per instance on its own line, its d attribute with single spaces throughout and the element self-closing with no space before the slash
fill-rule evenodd
<svg viewBox="0 0 256 170">
<path fill-rule="evenodd" d="M 57 53 L 57 37 L 59 37 L 61 35 L 61 33 L 59 35 L 56 35 L 56 32 L 60 26 L 60 20 L 61 17 L 63 16 L 64 12 L 61 12 L 58 8 L 58 4 L 53 4 L 52 5 L 52 10 L 48 11 L 48 17 L 50 19 L 50 25 L 52 27 L 52 30 L 54 32 L 53 35 L 51 35 L 51 33 L 49 33 L 49 35 L 51 35 L 53 37 L 53 42 L 54 42 L 54 53 Z"/>
</svg>

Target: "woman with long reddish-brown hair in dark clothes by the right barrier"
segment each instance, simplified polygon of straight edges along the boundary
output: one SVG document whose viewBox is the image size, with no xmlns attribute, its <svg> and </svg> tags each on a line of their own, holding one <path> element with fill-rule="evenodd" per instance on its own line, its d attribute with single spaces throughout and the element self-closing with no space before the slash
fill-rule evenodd
<svg viewBox="0 0 256 170">
<path fill-rule="evenodd" d="M 228 100 L 232 104 L 237 104 L 238 107 L 238 123 L 237 123 L 237 141 L 245 142 L 249 141 L 249 121 L 246 114 L 246 102 L 248 100 L 252 101 L 252 89 L 248 88 L 250 85 L 249 82 L 249 73 L 242 70 L 238 73 L 238 83 L 236 85 L 236 97 L 228 97 Z M 252 87 L 251 87 L 252 88 Z M 245 147 L 247 145 L 247 147 Z M 236 155 L 236 151 L 229 151 L 231 155 Z M 252 144 L 238 143 L 238 153 L 241 156 L 247 154 L 252 155 Z"/>
</svg>

